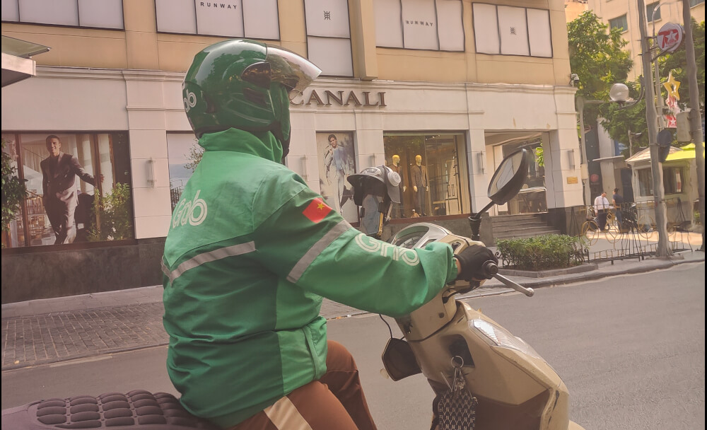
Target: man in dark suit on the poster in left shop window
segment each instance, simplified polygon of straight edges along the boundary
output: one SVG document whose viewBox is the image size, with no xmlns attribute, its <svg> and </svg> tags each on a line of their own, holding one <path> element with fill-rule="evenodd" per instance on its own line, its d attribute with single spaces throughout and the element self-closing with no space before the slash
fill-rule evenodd
<svg viewBox="0 0 707 430">
<path fill-rule="evenodd" d="M 95 187 L 95 179 L 83 170 L 78 159 L 62 152 L 62 140 L 51 134 L 46 139 L 49 156 L 42 160 L 42 190 L 45 210 L 52 229 L 57 236 L 54 245 L 72 243 L 76 238 L 74 211 L 78 204 L 76 176 Z"/>
</svg>

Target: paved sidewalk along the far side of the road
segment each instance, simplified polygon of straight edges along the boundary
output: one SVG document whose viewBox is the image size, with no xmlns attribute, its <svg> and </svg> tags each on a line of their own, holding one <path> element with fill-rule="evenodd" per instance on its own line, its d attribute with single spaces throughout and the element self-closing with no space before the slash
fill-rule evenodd
<svg viewBox="0 0 707 430">
<path fill-rule="evenodd" d="M 600 239 L 590 252 L 612 246 Z M 693 242 L 692 248 L 697 246 Z M 512 279 L 523 286 L 540 288 L 697 262 L 704 262 L 704 253 L 688 250 L 678 252 L 670 260 L 600 262 L 598 269 L 591 272 Z M 509 291 L 513 290 L 491 279 L 461 298 Z M 2 370 L 165 345 L 168 336 L 162 325 L 163 313 L 162 286 L 2 305 Z M 365 312 L 327 299 L 322 303 L 321 315 L 327 319 L 361 313 Z"/>
</svg>

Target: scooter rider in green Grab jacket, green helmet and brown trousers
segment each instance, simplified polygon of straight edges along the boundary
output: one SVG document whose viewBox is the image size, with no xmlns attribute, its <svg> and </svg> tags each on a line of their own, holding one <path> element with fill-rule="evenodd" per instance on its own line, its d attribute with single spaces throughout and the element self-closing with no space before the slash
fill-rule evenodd
<svg viewBox="0 0 707 430">
<path fill-rule="evenodd" d="M 318 74 L 281 47 L 227 40 L 182 85 L 204 154 L 165 242 L 167 366 L 182 405 L 224 428 L 375 429 L 351 354 L 327 342 L 322 297 L 405 315 L 496 260 L 370 238 L 280 163 L 288 93 Z"/>
</svg>

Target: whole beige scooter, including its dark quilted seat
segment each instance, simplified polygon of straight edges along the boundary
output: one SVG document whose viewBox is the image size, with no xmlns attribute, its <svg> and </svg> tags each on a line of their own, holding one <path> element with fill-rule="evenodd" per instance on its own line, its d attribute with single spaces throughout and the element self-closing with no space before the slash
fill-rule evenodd
<svg viewBox="0 0 707 430">
<path fill-rule="evenodd" d="M 399 231 L 390 243 L 424 248 L 448 243 L 454 252 L 479 241 L 481 214 L 493 204 L 505 204 L 522 187 L 530 154 L 525 149 L 506 157 L 489 185 L 491 202 L 469 216 L 471 238 L 457 236 L 433 223 L 415 223 Z M 400 178 L 385 166 L 351 175 L 354 202 L 361 207 L 360 227 L 380 238 L 390 219 L 391 202 L 399 202 Z M 532 289 L 498 274 L 486 262 L 487 276 L 496 277 L 522 294 Z M 440 293 L 396 322 L 404 337 L 392 337 L 382 354 L 385 373 L 401 380 L 422 373 L 437 397 L 432 429 L 582 430 L 569 419 L 566 385 L 537 351 L 497 322 L 455 296 L 483 281 L 448 284 Z M 2 411 L 3 429 L 216 429 L 192 416 L 168 393 L 135 390 L 130 393 L 81 395 L 31 402 Z"/>
</svg>

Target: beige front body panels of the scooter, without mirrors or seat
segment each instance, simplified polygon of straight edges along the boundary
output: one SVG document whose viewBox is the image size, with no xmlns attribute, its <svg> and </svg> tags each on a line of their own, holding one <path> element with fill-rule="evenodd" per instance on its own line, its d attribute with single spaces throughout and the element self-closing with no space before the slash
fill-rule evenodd
<svg viewBox="0 0 707 430">
<path fill-rule="evenodd" d="M 428 233 L 416 246 L 408 242 L 411 248 L 423 247 L 431 240 L 450 243 L 455 252 L 470 245 L 484 245 L 426 223 L 414 224 L 396 238 L 402 233 L 404 239 L 405 233 L 415 228 L 427 228 Z M 457 362 L 460 358 L 464 361 L 461 369 L 466 388 L 478 400 L 475 429 L 581 430 L 569 420 L 568 390 L 557 373 L 530 345 L 480 310 L 452 297 L 464 289 L 469 289 L 466 283 L 449 285 L 426 305 L 397 318 L 433 389 L 437 393 L 448 390 L 456 356 Z"/>
</svg>

